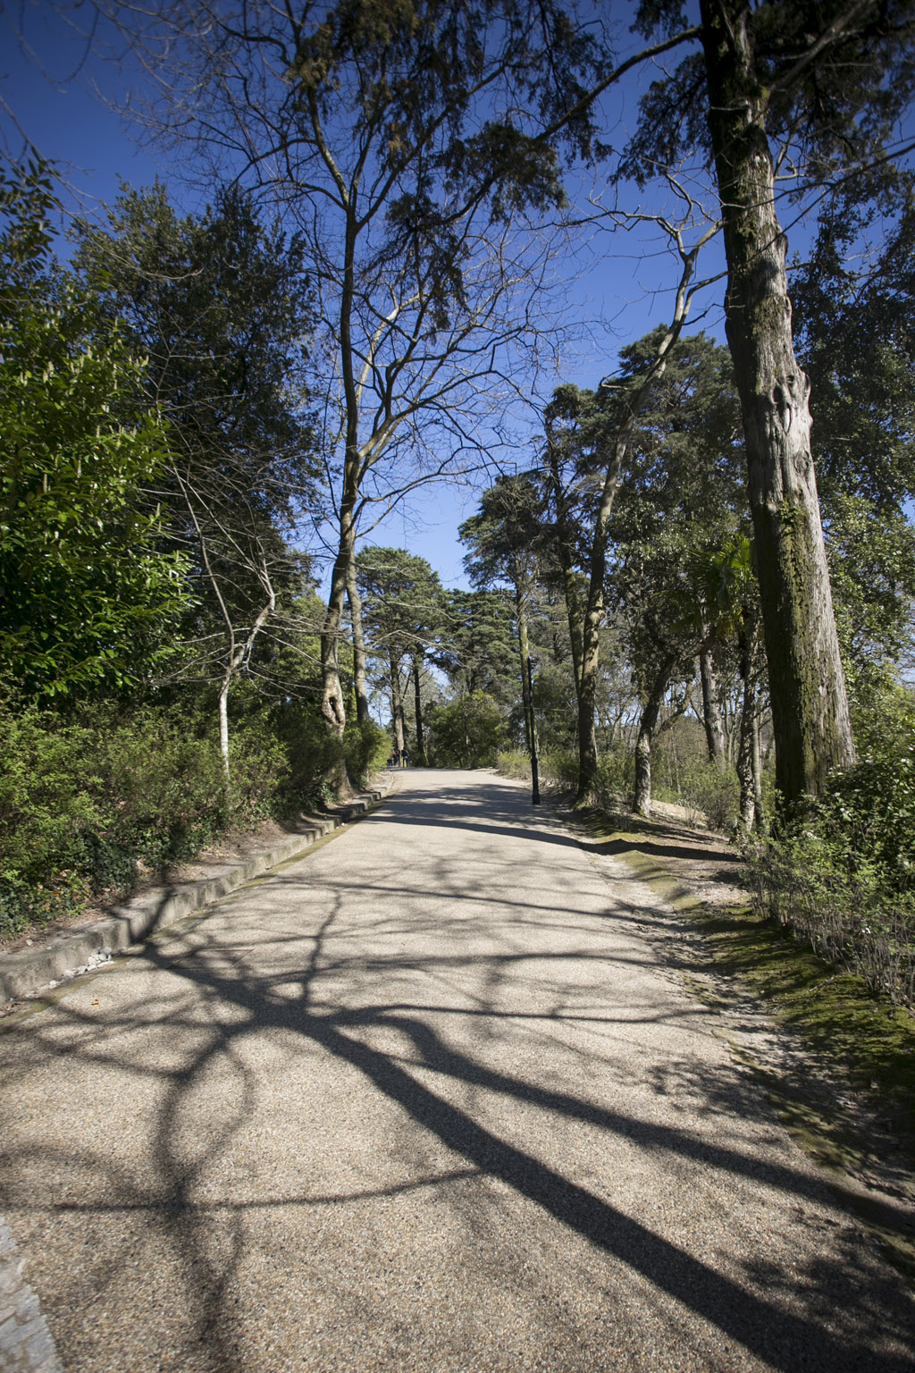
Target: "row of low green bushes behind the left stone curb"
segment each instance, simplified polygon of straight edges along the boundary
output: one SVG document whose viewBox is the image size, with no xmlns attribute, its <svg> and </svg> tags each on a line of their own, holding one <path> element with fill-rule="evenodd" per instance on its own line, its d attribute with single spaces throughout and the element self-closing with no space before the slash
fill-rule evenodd
<svg viewBox="0 0 915 1373">
<path fill-rule="evenodd" d="M 387 737 L 351 726 L 359 783 Z M 0 938 L 129 891 L 139 866 L 166 872 L 232 829 L 283 818 L 321 795 L 333 758 L 309 704 L 272 711 L 239 692 L 230 781 L 206 697 L 166 706 L 84 706 L 67 718 L 0 708 Z"/>
</svg>

